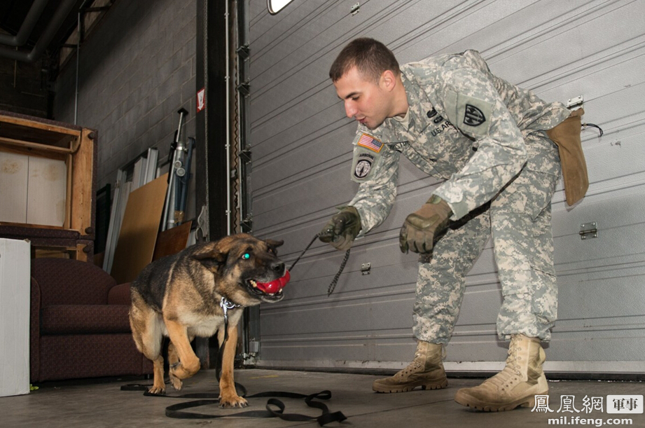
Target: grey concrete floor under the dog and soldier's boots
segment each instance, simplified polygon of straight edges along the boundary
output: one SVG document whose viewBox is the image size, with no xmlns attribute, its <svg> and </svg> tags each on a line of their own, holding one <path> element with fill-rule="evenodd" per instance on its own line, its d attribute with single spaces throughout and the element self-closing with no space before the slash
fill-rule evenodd
<svg viewBox="0 0 645 428">
<path fill-rule="evenodd" d="M 275 371 L 246 369 L 236 371 L 236 381 L 244 385 L 249 395 L 261 391 L 289 391 L 311 394 L 331 390 L 331 399 L 325 401 L 331 412 L 342 411 L 345 422 L 332 422 L 327 427 L 547 427 L 550 418 L 560 424 L 566 417 L 569 425 L 629 424 L 645 427 L 643 408 L 640 413 L 610 414 L 605 410 L 585 413 L 583 399 L 608 395 L 640 395 L 645 393 L 644 382 L 560 381 L 549 382 L 549 408 L 552 413 L 533 412 L 531 408 L 518 408 L 502 413 L 480 413 L 460 406 L 453 401 L 459 387 L 478 385 L 479 379 L 449 378 L 446 389 L 436 391 L 415 390 L 401 394 L 375 394 L 371 384 L 383 376 L 320 373 L 301 371 Z M 0 427 L 317 427 L 316 421 L 286 422 L 277 418 L 233 418 L 178 420 L 167 417 L 165 408 L 190 399 L 144 396 L 137 391 L 121 391 L 121 385 L 132 382 L 151 383 L 133 379 L 109 379 L 84 382 L 46 382 L 28 395 L 0 398 Z M 200 371 L 186 380 L 181 392 L 170 389 L 169 395 L 216 392 L 214 371 Z M 564 396 L 573 398 L 573 410 L 560 410 Z M 572 396 L 572 397 L 571 397 Z M 307 408 L 302 400 L 282 399 L 285 413 L 303 413 L 317 416 L 320 410 Z M 198 413 L 233 415 L 245 410 L 264 410 L 267 399 L 249 399 L 250 406 L 243 410 L 220 409 L 217 405 L 193 409 Z M 560 410 L 560 411 L 559 411 Z M 579 417 L 578 420 L 575 418 Z M 583 421 L 584 420 L 584 421 Z M 592 421 L 590 421 L 592 420 Z M 577 421 L 577 423 L 576 423 Z M 553 424 L 553 422 L 551 423 Z"/>
</svg>

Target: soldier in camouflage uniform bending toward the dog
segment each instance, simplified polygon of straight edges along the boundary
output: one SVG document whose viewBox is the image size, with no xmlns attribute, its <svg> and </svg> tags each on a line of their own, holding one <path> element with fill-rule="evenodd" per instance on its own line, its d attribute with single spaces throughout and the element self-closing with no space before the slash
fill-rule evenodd
<svg viewBox="0 0 645 428">
<path fill-rule="evenodd" d="M 569 116 L 560 103 L 494 76 L 474 50 L 399 67 L 382 43 L 356 39 L 329 73 L 349 118 L 359 122 L 352 180 L 356 196 L 326 223 L 320 239 L 339 250 L 378 226 L 396 197 L 398 160 L 445 179 L 401 227 L 401 251 L 419 253 L 412 363 L 376 392 L 448 385 L 442 352 L 452 336 L 464 277 L 492 235 L 504 302 L 497 332 L 510 340 L 504 370 L 457 391 L 479 410 L 533 406 L 547 394 L 541 341 L 556 318 L 551 198 L 560 177 L 553 139 L 580 138 L 556 127 Z M 555 130 L 553 129 L 555 128 Z M 566 183 L 565 183 L 566 185 Z M 586 188 L 585 188 L 586 190 Z"/>
</svg>

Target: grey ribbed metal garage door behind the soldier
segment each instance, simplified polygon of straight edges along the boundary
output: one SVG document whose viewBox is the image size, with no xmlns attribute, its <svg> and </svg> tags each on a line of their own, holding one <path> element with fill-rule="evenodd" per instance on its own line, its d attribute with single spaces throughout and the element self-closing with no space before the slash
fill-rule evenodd
<svg viewBox="0 0 645 428">
<path fill-rule="evenodd" d="M 574 207 L 553 200 L 559 321 L 548 371 L 645 371 L 645 15 L 628 0 L 295 0 L 270 15 L 250 1 L 249 143 L 254 234 L 284 239 L 290 264 L 338 205 L 349 181 L 356 124 L 327 73 L 356 36 L 387 44 L 401 63 L 479 50 L 492 71 L 548 101 L 584 98 L 590 191 Z M 398 197 L 382 226 L 359 240 L 331 297 L 342 253 L 314 244 L 292 272 L 284 301 L 262 305 L 262 366 L 400 368 L 412 358 L 417 258 L 398 251 L 398 229 L 436 186 L 402 165 Z M 595 238 L 581 240 L 581 224 Z M 370 263 L 369 275 L 361 265 Z M 501 368 L 495 333 L 501 291 L 487 245 L 468 288 L 448 370 Z"/>
</svg>

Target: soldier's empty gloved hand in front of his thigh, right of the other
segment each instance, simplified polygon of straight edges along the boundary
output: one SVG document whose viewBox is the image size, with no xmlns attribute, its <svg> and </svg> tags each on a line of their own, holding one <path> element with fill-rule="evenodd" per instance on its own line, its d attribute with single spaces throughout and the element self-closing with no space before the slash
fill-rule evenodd
<svg viewBox="0 0 645 428">
<path fill-rule="evenodd" d="M 401 252 L 408 249 L 415 253 L 429 253 L 434 246 L 434 238 L 448 227 L 452 210 L 437 195 L 432 195 L 428 202 L 410 214 L 401 226 L 398 235 L 398 246 Z"/>
</svg>

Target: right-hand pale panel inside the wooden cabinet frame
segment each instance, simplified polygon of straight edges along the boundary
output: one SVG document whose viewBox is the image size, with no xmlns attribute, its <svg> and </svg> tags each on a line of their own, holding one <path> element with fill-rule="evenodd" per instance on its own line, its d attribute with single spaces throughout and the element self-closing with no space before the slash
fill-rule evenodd
<svg viewBox="0 0 645 428">
<path fill-rule="evenodd" d="M 64 160 L 29 157 L 27 223 L 63 226 L 67 200 L 67 165 Z"/>
</svg>

